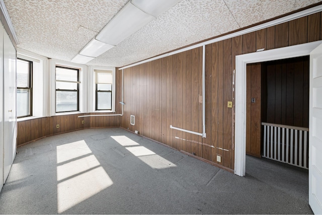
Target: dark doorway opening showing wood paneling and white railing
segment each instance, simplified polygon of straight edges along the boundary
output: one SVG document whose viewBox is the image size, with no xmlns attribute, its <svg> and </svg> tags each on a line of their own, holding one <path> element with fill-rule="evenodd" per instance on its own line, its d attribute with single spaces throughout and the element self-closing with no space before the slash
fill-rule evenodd
<svg viewBox="0 0 322 215">
<path fill-rule="evenodd" d="M 308 169 L 309 56 L 247 64 L 246 153 Z"/>
</svg>

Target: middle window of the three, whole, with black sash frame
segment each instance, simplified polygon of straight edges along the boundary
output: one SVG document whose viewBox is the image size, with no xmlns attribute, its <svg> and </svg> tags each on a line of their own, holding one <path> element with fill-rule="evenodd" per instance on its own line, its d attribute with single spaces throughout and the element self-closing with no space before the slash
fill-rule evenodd
<svg viewBox="0 0 322 215">
<path fill-rule="evenodd" d="M 79 69 L 56 66 L 56 113 L 79 110 Z"/>
</svg>

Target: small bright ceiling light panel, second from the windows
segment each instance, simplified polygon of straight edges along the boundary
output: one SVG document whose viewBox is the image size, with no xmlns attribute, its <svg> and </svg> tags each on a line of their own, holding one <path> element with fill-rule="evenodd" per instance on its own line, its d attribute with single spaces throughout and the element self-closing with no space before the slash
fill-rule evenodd
<svg viewBox="0 0 322 215">
<path fill-rule="evenodd" d="M 90 57 L 98 57 L 103 54 L 107 50 L 113 48 L 114 45 L 106 44 L 96 39 L 93 39 L 89 42 L 79 54 L 90 56 Z"/>
</svg>

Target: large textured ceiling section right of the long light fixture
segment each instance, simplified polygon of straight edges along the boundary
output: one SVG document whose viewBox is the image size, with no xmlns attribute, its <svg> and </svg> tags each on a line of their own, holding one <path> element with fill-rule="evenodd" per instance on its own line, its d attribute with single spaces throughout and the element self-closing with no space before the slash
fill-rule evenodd
<svg viewBox="0 0 322 215">
<path fill-rule="evenodd" d="M 238 28 L 223 1 L 182 0 L 90 64 L 123 66 Z"/>
</svg>

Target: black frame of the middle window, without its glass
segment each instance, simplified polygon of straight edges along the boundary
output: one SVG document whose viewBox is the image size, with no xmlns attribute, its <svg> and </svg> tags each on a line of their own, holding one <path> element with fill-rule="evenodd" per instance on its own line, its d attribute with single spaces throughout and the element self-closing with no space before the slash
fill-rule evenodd
<svg viewBox="0 0 322 215">
<path fill-rule="evenodd" d="M 74 83 L 77 84 L 77 90 L 66 90 L 66 89 L 56 89 L 56 68 L 64 68 L 64 69 L 70 69 L 70 70 L 76 70 L 77 71 L 77 81 L 63 81 L 63 80 L 58 80 L 58 82 L 65 82 L 65 83 Z M 67 66 L 61 66 L 61 65 L 55 65 L 55 113 L 69 113 L 69 112 L 78 112 L 79 111 L 79 84 L 81 82 L 79 81 L 79 68 L 73 68 L 73 67 L 67 67 Z M 57 112 L 57 91 L 61 92 L 77 92 L 77 110 L 70 110 L 70 111 L 58 111 Z"/>
</svg>

